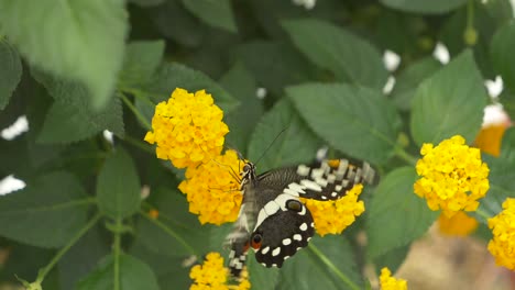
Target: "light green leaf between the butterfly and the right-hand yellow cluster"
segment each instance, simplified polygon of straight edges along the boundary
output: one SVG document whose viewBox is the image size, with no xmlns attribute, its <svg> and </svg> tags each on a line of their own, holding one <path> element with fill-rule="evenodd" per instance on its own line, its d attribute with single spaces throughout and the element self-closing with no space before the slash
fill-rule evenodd
<svg viewBox="0 0 515 290">
<path fill-rule="evenodd" d="M 420 237 L 439 212 L 413 191 L 417 174 L 413 167 L 390 172 L 375 189 L 368 210 L 369 255 L 377 258 Z"/>
</svg>

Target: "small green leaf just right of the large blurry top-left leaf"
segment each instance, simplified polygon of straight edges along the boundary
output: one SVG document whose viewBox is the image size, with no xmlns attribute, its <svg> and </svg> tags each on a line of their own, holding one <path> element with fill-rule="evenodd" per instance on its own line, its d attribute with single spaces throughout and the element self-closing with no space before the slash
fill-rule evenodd
<svg viewBox="0 0 515 290">
<path fill-rule="evenodd" d="M 140 41 L 128 45 L 123 68 L 120 71 L 120 85 L 131 87 L 145 83 L 157 69 L 163 58 L 163 41 Z"/>
</svg>

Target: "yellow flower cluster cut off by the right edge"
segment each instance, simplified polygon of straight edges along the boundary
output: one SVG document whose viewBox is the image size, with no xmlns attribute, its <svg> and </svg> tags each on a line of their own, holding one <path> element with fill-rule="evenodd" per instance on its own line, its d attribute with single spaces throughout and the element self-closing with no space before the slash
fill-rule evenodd
<svg viewBox="0 0 515 290">
<path fill-rule="evenodd" d="M 503 211 L 489 219 L 493 238 L 489 250 L 495 257 L 495 263 L 515 270 L 515 199 L 503 202 Z"/>
</svg>

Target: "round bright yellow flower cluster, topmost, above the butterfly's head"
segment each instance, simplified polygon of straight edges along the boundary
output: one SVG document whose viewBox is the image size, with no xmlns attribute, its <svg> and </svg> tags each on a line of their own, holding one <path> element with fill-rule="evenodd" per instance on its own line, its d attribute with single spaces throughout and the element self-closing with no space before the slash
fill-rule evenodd
<svg viewBox="0 0 515 290">
<path fill-rule="evenodd" d="M 229 127 L 212 97 L 200 90 L 175 89 L 167 102 L 155 108 L 152 132 L 145 141 L 157 144 L 156 155 L 177 168 L 196 166 L 220 154 Z"/>
</svg>

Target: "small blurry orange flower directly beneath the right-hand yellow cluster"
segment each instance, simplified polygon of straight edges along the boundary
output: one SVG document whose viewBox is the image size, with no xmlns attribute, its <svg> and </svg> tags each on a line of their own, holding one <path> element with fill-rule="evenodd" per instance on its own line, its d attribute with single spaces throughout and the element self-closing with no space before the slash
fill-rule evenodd
<svg viewBox="0 0 515 290">
<path fill-rule="evenodd" d="M 440 214 L 438 219 L 440 233 L 449 236 L 467 236 L 478 228 L 478 221 L 467 213 L 459 211 L 451 217 Z"/>
</svg>

